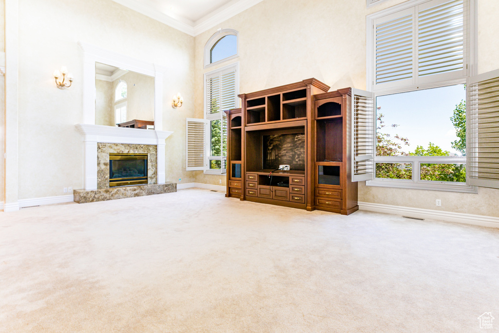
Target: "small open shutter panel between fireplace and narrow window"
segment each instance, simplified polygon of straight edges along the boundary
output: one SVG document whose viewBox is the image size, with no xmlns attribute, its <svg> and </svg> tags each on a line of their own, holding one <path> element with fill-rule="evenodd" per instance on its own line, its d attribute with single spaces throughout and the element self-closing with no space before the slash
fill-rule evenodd
<svg viewBox="0 0 499 333">
<path fill-rule="evenodd" d="M 206 170 L 206 133 L 208 121 L 186 119 L 186 170 Z"/>
</svg>

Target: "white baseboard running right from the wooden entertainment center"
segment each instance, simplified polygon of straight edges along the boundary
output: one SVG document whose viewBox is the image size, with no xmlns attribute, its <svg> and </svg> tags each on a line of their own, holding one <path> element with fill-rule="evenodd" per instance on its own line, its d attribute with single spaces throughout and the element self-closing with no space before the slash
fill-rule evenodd
<svg viewBox="0 0 499 333">
<path fill-rule="evenodd" d="M 432 219 L 448 222 L 457 222 L 482 226 L 489 228 L 499 228 L 499 218 L 484 215 L 464 214 L 446 211 L 436 211 L 432 209 L 411 208 L 403 206 L 392 206 L 374 204 L 370 202 L 359 202 L 359 209 L 378 213 L 388 213 L 416 217 L 420 219 Z"/>
</svg>

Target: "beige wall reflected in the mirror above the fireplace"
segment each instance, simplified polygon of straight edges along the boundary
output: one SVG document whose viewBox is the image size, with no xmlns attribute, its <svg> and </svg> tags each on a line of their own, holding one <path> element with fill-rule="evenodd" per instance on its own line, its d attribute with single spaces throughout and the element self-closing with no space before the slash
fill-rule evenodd
<svg viewBox="0 0 499 333">
<path fill-rule="evenodd" d="M 126 121 L 134 119 L 154 121 L 154 77 L 128 72 L 113 82 L 113 93 L 120 80 L 127 83 Z"/>
</svg>

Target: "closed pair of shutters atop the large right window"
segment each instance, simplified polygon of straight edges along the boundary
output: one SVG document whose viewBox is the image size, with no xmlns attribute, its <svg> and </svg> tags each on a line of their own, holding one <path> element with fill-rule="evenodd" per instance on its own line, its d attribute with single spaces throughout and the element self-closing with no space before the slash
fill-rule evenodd
<svg viewBox="0 0 499 333">
<path fill-rule="evenodd" d="M 464 79 L 467 1 L 431 0 L 403 7 L 373 16 L 373 53 L 368 54 L 373 58 L 373 90 Z"/>
</svg>

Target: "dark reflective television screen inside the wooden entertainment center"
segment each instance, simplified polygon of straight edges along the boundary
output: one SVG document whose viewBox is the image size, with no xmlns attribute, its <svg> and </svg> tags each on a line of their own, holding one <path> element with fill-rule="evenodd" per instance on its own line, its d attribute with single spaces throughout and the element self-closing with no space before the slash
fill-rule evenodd
<svg viewBox="0 0 499 333">
<path fill-rule="evenodd" d="M 278 169 L 288 164 L 290 170 L 305 170 L 305 134 L 263 136 L 263 169 Z"/>
</svg>

